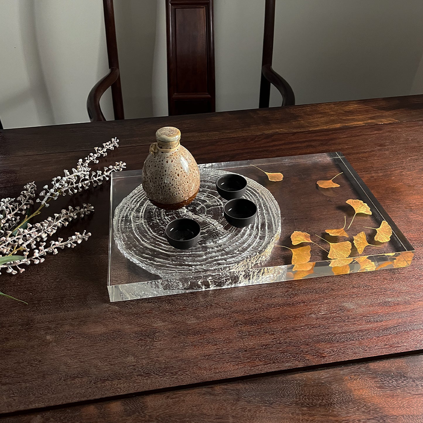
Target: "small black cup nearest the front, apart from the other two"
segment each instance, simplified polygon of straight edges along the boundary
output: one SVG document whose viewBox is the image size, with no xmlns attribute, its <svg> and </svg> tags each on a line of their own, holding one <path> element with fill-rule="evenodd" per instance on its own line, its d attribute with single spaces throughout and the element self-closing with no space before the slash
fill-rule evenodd
<svg viewBox="0 0 423 423">
<path fill-rule="evenodd" d="M 200 225 L 192 219 L 175 219 L 165 228 L 166 239 L 172 247 L 187 250 L 194 247 L 200 239 Z"/>
</svg>

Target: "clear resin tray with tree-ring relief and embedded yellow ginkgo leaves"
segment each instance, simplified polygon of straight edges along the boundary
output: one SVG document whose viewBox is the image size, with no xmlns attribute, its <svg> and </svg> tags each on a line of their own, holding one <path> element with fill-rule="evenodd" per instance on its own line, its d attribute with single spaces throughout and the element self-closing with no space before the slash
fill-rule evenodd
<svg viewBox="0 0 423 423">
<path fill-rule="evenodd" d="M 342 153 L 199 165 L 201 187 L 176 211 L 154 207 L 141 170 L 112 174 L 110 301 L 344 275 L 409 266 L 414 249 Z M 255 222 L 234 228 L 214 183 L 247 179 Z M 388 176 L 389 178 L 389 176 Z M 178 217 L 201 225 L 189 250 L 171 247 L 165 226 Z M 336 283 L 336 281 L 334 282 Z"/>
</svg>

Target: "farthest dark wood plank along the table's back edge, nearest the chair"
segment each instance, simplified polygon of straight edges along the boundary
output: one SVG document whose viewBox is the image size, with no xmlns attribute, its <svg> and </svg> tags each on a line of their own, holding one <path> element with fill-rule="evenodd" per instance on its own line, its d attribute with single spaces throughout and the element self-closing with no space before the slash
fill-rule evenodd
<svg viewBox="0 0 423 423">
<path fill-rule="evenodd" d="M 302 131 L 410 122 L 423 118 L 423 96 L 392 97 L 272 109 L 236 110 L 189 116 L 93 122 L 6 129 L 0 133 L 0 158 L 79 151 L 118 136 L 121 146 L 150 145 L 154 128 L 174 125 L 181 142 L 246 135 L 291 134 Z M 153 132 L 151 132 L 153 130 Z M 283 139 L 283 138 L 280 138 Z M 209 158 L 211 160 L 212 158 Z M 142 163 L 142 162 L 141 162 Z"/>
</svg>

